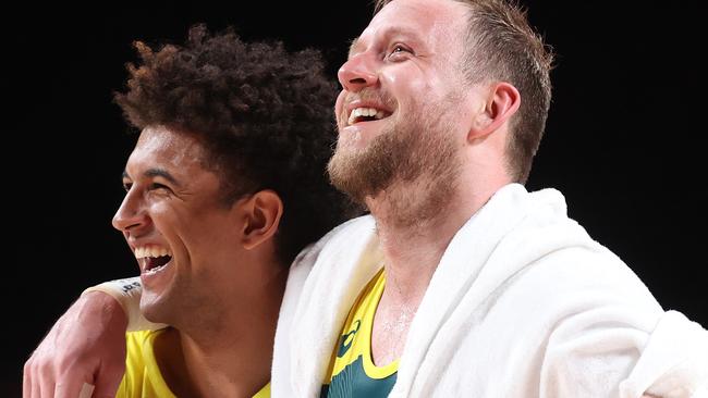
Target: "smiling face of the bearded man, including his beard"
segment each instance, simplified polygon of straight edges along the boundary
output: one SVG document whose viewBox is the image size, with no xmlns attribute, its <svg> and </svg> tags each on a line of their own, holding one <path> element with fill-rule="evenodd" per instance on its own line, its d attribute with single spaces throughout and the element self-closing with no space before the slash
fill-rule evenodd
<svg viewBox="0 0 708 398">
<path fill-rule="evenodd" d="M 396 0 L 354 41 L 328 166 L 338 188 L 361 201 L 396 182 L 439 190 L 455 178 L 473 108 L 461 69 L 466 15 L 450 0 Z"/>
</svg>

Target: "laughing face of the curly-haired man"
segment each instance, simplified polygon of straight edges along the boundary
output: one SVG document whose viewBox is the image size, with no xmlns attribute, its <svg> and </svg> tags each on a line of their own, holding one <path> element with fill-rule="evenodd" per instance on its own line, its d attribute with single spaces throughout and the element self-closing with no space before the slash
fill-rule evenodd
<svg viewBox="0 0 708 398">
<path fill-rule="evenodd" d="M 192 135 L 146 127 L 125 166 L 126 195 L 113 226 L 137 259 L 141 310 L 151 321 L 175 324 L 192 309 L 218 304 L 213 293 L 224 281 L 236 283 L 239 201 L 223 204 L 219 176 L 204 167 L 205 156 Z"/>
</svg>

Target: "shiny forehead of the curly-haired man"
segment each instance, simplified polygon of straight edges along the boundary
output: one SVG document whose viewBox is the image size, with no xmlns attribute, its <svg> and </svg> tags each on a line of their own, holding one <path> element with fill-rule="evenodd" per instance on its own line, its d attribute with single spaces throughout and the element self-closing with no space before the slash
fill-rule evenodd
<svg viewBox="0 0 708 398">
<path fill-rule="evenodd" d="M 129 159 L 129 164 L 160 164 L 163 167 L 182 170 L 200 164 L 205 149 L 191 134 L 178 133 L 163 126 L 148 126 Z"/>
</svg>

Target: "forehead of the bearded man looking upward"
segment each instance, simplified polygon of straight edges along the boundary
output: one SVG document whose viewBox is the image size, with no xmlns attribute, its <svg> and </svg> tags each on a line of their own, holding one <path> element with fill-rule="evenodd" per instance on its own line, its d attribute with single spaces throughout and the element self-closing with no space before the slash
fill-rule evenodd
<svg viewBox="0 0 708 398">
<path fill-rule="evenodd" d="M 457 43 L 467 26 L 468 8 L 453 0 L 394 0 L 374 16 L 352 46 L 356 51 L 370 40 L 406 36 L 438 47 Z"/>
</svg>

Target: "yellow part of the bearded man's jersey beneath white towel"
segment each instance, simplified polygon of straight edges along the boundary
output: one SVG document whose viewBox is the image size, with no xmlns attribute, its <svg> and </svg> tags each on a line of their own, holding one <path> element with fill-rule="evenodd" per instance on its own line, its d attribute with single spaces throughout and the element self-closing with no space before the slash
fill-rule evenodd
<svg viewBox="0 0 708 398">
<path fill-rule="evenodd" d="M 371 328 L 374 315 L 383 294 L 386 274 L 379 271 L 364 287 L 358 298 L 352 306 L 349 316 L 342 327 L 342 335 L 332 355 L 332 361 L 327 373 L 325 384 L 330 384 L 332 378 L 355 362 L 359 356 L 364 372 L 368 378 L 386 378 L 399 370 L 399 360 L 377 366 L 371 360 Z"/>
</svg>

